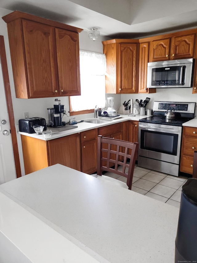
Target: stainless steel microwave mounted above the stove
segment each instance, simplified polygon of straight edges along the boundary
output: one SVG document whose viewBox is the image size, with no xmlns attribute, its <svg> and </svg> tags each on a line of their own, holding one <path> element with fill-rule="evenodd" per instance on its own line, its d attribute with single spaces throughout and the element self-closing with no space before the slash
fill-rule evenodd
<svg viewBox="0 0 197 263">
<path fill-rule="evenodd" d="M 150 62 L 147 88 L 190 88 L 193 83 L 194 59 Z"/>
</svg>

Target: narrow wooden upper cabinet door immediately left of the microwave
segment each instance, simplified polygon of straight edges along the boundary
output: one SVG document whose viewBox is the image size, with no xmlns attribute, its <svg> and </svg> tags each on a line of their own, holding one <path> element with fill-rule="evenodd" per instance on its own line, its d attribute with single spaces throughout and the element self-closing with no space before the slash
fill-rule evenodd
<svg viewBox="0 0 197 263">
<path fill-rule="evenodd" d="M 155 93 L 156 88 L 147 88 L 147 64 L 149 43 L 139 44 L 139 93 Z"/>
</svg>

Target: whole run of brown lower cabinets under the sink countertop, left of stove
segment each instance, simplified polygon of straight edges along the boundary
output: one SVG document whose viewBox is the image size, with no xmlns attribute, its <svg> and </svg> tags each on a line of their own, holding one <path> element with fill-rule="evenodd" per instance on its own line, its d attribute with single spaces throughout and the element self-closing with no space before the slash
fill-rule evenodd
<svg viewBox="0 0 197 263">
<path fill-rule="evenodd" d="M 57 163 L 86 174 L 96 172 L 98 135 L 136 142 L 138 121 L 112 124 L 49 141 L 21 135 L 25 174 Z"/>
</svg>

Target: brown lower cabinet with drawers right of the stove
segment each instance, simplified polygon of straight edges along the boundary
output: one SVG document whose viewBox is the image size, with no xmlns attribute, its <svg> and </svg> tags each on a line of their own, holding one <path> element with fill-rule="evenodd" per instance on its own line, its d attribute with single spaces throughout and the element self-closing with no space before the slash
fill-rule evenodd
<svg viewBox="0 0 197 263">
<path fill-rule="evenodd" d="M 180 171 L 193 173 L 194 151 L 197 150 L 197 128 L 183 126 Z"/>
</svg>

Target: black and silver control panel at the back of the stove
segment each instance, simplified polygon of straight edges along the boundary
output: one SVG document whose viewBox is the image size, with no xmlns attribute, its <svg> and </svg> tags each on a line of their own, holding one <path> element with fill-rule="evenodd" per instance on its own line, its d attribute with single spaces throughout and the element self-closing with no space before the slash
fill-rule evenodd
<svg viewBox="0 0 197 263">
<path fill-rule="evenodd" d="M 174 108 L 179 113 L 195 113 L 195 102 L 173 102 L 173 101 L 154 101 L 153 111 L 167 111 Z"/>
</svg>

